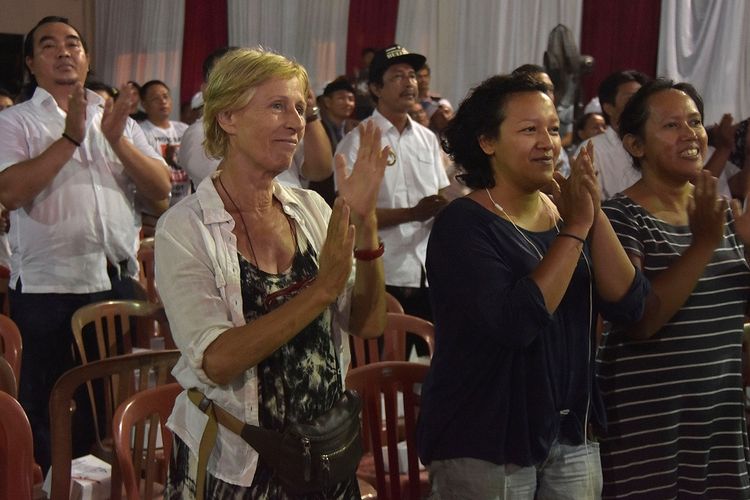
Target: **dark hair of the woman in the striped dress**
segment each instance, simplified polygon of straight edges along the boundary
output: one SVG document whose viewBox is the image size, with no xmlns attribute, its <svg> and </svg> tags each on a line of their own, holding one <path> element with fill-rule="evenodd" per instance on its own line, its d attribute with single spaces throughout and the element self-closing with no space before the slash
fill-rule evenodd
<svg viewBox="0 0 750 500">
<path fill-rule="evenodd" d="M 695 87 L 686 82 L 675 83 L 674 80 L 667 78 L 657 78 L 643 85 L 628 100 L 620 115 L 620 129 L 618 131 L 620 139 L 623 139 L 626 135 L 632 135 L 641 140 L 645 139 L 645 127 L 650 113 L 649 100 L 651 96 L 672 89 L 685 92 L 695 103 L 695 107 L 698 108 L 701 115 L 701 120 L 703 120 L 703 98 L 695 90 Z M 632 158 L 633 165 L 640 168 L 640 159 L 634 156 Z"/>
</svg>

